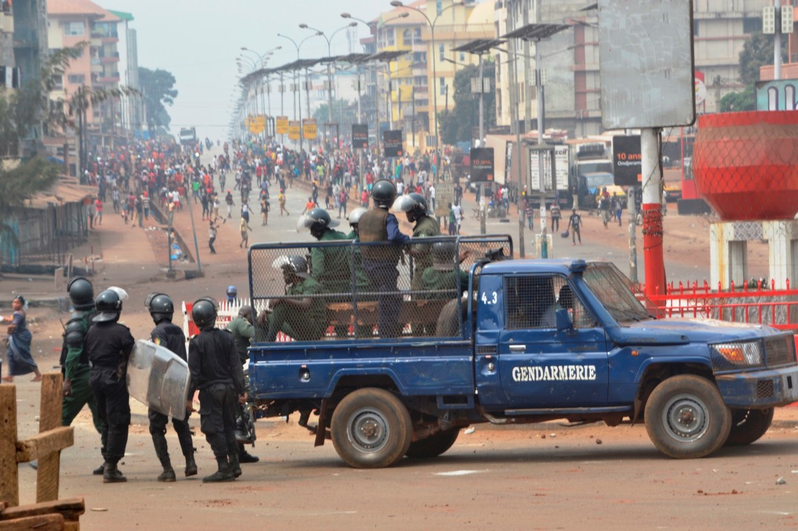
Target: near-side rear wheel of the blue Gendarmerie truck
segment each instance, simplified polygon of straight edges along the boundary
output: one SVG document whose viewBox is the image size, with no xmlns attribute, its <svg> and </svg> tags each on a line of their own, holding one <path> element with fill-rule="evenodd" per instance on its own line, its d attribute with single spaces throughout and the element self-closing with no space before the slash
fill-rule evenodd
<svg viewBox="0 0 798 531">
<path fill-rule="evenodd" d="M 347 465 L 383 468 L 399 461 L 413 435 L 410 414 L 384 389 L 358 389 L 335 407 L 330 433 L 333 446 Z"/>
</svg>

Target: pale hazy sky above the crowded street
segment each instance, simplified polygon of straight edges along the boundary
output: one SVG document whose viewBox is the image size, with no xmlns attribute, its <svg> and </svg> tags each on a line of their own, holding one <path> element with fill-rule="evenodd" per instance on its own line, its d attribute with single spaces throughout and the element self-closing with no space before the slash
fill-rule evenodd
<svg viewBox="0 0 798 531">
<path fill-rule="evenodd" d="M 131 13 L 130 27 L 138 33 L 139 65 L 164 69 L 176 77 L 180 91 L 172 107 L 172 133 L 180 127 L 196 126 L 200 138 L 223 140 L 230 122 L 233 101 L 239 91 L 235 58 L 246 46 L 258 53 L 282 46 L 275 51 L 269 66 L 279 66 L 297 57 L 296 48 L 277 33 L 294 41 L 311 35 L 302 30 L 305 23 L 328 36 L 350 20 L 342 12 L 369 21 L 381 12 L 393 9 L 389 0 L 95 0 L 105 9 Z M 358 24 L 358 38 L 369 34 Z M 359 42 L 353 52 L 361 52 Z M 346 31 L 332 41 L 333 55 L 349 53 Z M 255 59 L 251 53 L 247 57 Z M 301 57 L 325 57 L 327 43 L 314 37 L 302 45 Z M 247 61 L 243 61 L 247 63 Z M 275 108 L 275 93 L 272 107 Z M 292 101 L 286 92 L 286 110 Z M 279 101 L 279 95 L 277 95 Z M 276 111 L 276 108 L 275 108 Z"/>
</svg>

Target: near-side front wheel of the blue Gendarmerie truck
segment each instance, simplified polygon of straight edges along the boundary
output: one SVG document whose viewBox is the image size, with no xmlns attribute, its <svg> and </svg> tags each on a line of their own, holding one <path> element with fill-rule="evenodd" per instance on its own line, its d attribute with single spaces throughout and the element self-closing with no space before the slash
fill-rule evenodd
<svg viewBox="0 0 798 531">
<path fill-rule="evenodd" d="M 712 454 L 732 428 L 732 412 L 717 387 L 694 375 L 673 376 L 654 387 L 645 415 L 651 442 L 678 459 Z"/>
</svg>

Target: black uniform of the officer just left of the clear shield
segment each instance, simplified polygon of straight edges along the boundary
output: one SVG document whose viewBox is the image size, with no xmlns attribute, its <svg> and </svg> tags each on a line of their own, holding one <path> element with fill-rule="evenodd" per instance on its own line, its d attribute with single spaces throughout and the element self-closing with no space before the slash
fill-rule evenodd
<svg viewBox="0 0 798 531">
<path fill-rule="evenodd" d="M 92 364 L 89 381 L 108 441 L 103 457 L 112 465 L 124 457 L 128 444 L 130 395 L 125 375 L 135 342 L 130 328 L 114 321 L 95 323 L 85 336 L 85 349 Z"/>
</svg>

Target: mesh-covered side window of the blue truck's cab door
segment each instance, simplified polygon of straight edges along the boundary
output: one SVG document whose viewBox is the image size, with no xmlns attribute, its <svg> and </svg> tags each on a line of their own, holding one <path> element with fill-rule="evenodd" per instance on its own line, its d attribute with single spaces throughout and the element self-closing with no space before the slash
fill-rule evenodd
<svg viewBox="0 0 798 531">
<path fill-rule="evenodd" d="M 567 309 L 575 328 L 593 328 L 595 320 L 559 275 L 507 277 L 508 329 L 555 328 L 556 312 Z"/>
</svg>

